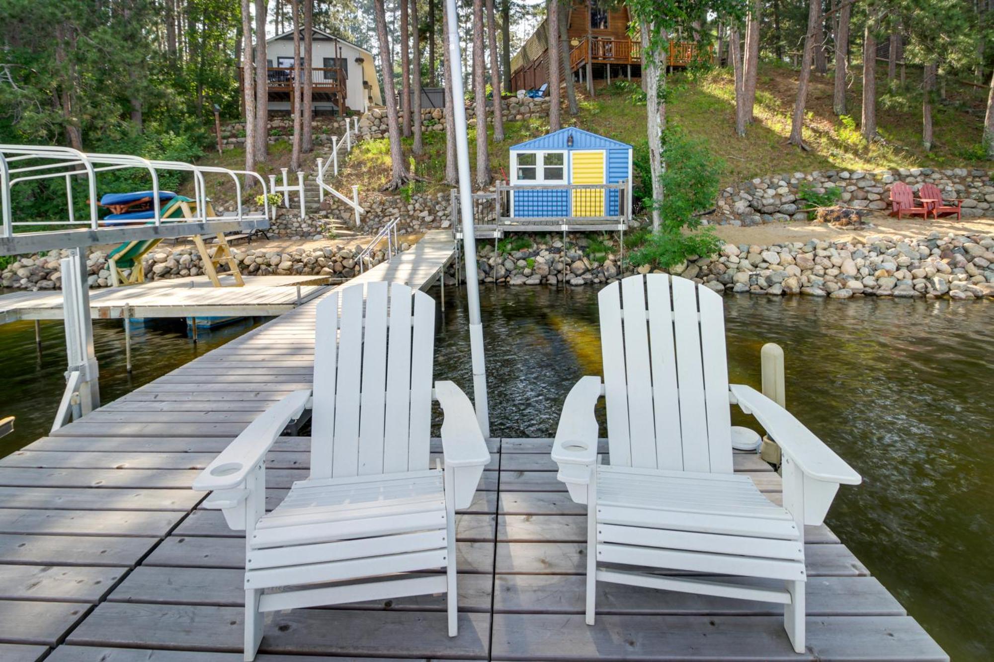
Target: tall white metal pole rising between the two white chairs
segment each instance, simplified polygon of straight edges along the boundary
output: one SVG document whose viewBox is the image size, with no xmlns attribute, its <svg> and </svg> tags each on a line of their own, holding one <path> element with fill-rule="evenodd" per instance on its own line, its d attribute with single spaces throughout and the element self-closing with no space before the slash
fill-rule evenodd
<svg viewBox="0 0 994 662">
<path fill-rule="evenodd" d="M 455 0 L 445 0 L 448 32 L 449 81 L 452 87 L 452 118 L 455 123 L 455 156 L 459 171 L 459 209 L 462 217 L 462 249 L 466 259 L 466 302 L 469 305 L 469 353 L 473 366 L 473 401 L 476 419 L 484 436 L 490 436 L 487 407 L 487 371 L 483 356 L 483 323 L 480 320 L 480 285 L 476 279 L 476 234 L 473 227 L 473 190 L 469 175 L 469 141 L 466 126 L 465 91 L 462 87 L 462 54 Z M 482 121 L 481 121 L 482 120 Z M 477 118 L 477 130 L 486 130 L 486 118 Z M 453 210 L 454 212 L 454 210 Z"/>
</svg>

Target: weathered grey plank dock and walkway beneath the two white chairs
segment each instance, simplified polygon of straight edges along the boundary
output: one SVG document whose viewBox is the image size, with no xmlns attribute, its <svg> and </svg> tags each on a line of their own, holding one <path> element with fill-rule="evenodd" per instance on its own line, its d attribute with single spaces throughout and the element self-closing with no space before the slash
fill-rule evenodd
<svg viewBox="0 0 994 662">
<path fill-rule="evenodd" d="M 426 239 L 360 278 L 426 287 L 452 256 L 450 236 Z M 311 301 L 0 460 L 0 659 L 242 659 L 245 542 L 190 485 L 255 415 L 310 386 L 313 324 Z M 588 627 L 585 515 L 556 479 L 551 440 L 488 443 L 458 517 L 458 637 L 443 597 L 404 597 L 275 612 L 257 659 L 947 659 L 823 526 L 806 532 L 806 654 L 776 605 L 608 583 Z M 308 448 L 283 437 L 269 453 L 270 507 L 307 475 Z M 735 464 L 780 498 L 755 455 Z"/>
</svg>

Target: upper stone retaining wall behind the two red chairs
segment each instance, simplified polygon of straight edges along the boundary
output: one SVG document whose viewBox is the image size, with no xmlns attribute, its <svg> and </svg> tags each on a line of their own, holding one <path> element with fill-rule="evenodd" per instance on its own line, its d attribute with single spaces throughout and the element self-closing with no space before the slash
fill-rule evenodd
<svg viewBox="0 0 994 662">
<path fill-rule="evenodd" d="M 809 207 L 801 187 L 823 194 L 836 188 L 843 205 L 875 211 L 889 210 L 894 182 L 905 182 L 917 191 L 922 184 L 935 184 L 947 198 L 963 199 L 963 216 L 991 214 L 994 204 L 994 173 L 977 169 L 934 170 L 912 168 L 862 172 L 826 170 L 756 178 L 730 186 L 719 195 L 715 213 L 708 217 L 719 225 L 754 226 L 775 221 L 803 221 Z"/>
</svg>

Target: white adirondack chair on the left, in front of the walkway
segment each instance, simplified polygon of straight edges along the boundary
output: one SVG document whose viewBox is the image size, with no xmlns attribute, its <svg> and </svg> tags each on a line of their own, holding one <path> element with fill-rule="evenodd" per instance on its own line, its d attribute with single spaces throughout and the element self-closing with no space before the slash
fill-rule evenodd
<svg viewBox="0 0 994 662">
<path fill-rule="evenodd" d="M 444 592 L 457 633 L 454 513 L 490 454 L 462 391 L 437 382 L 432 393 L 434 300 L 394 284 L 388 302 L 387 283 L 369 283 L 364 314 L 363 293 L 345 287 L 317 305 L 313 394 L 259 415 L 194 481 L 246 532 L 246 660 L 276 609 Z M 444 470 L 428 461 L 432 395 Z M 266 513 L 265 453 L 311 403 L 310 477 Z M 435 569 L 446 572 L 403 575 Z"/>
</svg>

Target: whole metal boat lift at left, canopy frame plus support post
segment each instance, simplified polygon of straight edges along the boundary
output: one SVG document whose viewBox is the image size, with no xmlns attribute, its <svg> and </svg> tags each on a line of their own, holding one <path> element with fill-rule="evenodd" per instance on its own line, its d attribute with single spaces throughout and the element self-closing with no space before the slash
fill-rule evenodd
<svg viewBox="0 0 994 662">
<path fill-rule="evenodd" d="M 97 215 L 97 175 L 126 169 L 148 172 L 152 184 L 153 216 L 151 219 L 138 220 L 136 225 L 101 227 Z M 158 171 L 160 170 L 193 174 L 194 199 L 197 206 L 193 219 L 162 218 L 159 200 L 161 190 Z M 238 199 L 238 209 L 235 214 L 208 215 L 207 185 L 204 179 L 207 173 L 227 175 L 234 180 Z M 243 208 L 243 185 L 240 176 L 245 178 L 246 185 L 250 179 L 258 181 L 262 191 L 261 211 L 247 212 Z M 88 218 L 77 218 L 73 197 L 75 177 L 84 177 L 86 180 Z M 46 179 L 65 180 L 66 218 L 15 221 L 12 194 L 14 185 Z M 66 372 L 66 390 L 52 424 L 53 431 L 71 419 L 88 414 L 100 406 L 99 369 L 93 351 L 85 248 L 120 242 L 266 230 L 269 228 L 268 193 L 265 180 L 257 173 L 247 170 L 196 166 L 181 161 L 160 161 L 128 154 L 83 153 L 69 147 L 0 144 L 0 255 L 71 249 L 71 254 L 61 261 L 69 369 Z M 301 200 L 301 204 L 302 202 Z M 54 231 L 51 230 L 53 226 L 65 229 Z M 31 231 L 30 228 L 38 230 Z M 23 231 L 17 232 L 19 229 Z"/>
</svg>

